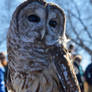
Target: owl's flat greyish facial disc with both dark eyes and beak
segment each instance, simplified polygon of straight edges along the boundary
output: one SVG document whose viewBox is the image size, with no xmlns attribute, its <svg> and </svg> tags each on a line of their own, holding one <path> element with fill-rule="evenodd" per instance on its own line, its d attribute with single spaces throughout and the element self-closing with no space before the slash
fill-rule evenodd
<svg viewBox="0 0 92 92">
<path fill-rule="evenodd" d="M 18 15 L 18 31 L 23 42 L 44 42 L 47 46 L 57 45 L 64 34 L 65 15 L 52 4 L 31 1 Z"/>
</svg>

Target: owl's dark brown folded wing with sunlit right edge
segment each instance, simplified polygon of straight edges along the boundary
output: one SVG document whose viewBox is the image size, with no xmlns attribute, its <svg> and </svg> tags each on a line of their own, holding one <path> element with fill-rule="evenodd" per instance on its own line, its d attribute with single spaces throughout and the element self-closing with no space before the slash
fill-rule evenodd
<svg viewBox="0 0 92 92">
<path fill-rule="evenodd" d="M 53 61 L 57 69 L 57 75 L 63 92 L 80 92 L 78 81 L 73 70 L 73 65 L 69 60 L 67 50 L 64 48 L 55 48 L 55 50 L 56 52 Z"/>
</svg>

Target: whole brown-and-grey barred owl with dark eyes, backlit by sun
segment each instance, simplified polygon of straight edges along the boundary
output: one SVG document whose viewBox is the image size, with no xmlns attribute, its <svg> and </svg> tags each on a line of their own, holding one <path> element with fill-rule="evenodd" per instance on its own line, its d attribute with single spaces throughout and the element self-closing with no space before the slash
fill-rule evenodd
<svg viewBox="0 0 92 92">
<path fill-rule="evenodd" d="M 7 35 L 11 92 L 80 92 L 65 49 L 65 14 L 28 0 L 17 7 Z"/>
</svg>

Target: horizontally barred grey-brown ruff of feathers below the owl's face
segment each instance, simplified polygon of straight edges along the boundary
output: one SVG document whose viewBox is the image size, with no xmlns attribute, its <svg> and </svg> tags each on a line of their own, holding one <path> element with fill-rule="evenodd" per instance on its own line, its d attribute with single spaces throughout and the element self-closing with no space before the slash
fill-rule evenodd
<svg viewBox="0 0 92 92">
<path fill-rule="evenodd" d="M 18 48 L 20 47 L 20 48 Z M 48 65 L 53 62 L 52 55 L 49 51 L 49 48 L 46 48 L 43 44 L 27 44 L 26 46 L 16 45 L 15 48 L 15 57 L 14 61 L 17 62 L 16 65 L 27 66 L 29 68 L 47 68 Z M 15 66 L 16 66 L 15 65 Z"/>
</svg>

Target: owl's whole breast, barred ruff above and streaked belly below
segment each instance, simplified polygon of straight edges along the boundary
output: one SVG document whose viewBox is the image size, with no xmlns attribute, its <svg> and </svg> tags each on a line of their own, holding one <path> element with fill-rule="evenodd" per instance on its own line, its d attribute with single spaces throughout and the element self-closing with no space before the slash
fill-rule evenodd
<svg viewBox="0 0 92 92">
<path fill-rule="evenodd" d="M 49 49 L 37 43 L 31 44 L 30 48 L 26 44 L 26 48 L 17 50 L 17 57 L 10 62 L 11 70 L 14 70 L 10 76 L 15 92 L 59 92 L 59 79 Z"/>
</svg>

